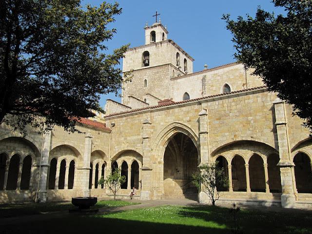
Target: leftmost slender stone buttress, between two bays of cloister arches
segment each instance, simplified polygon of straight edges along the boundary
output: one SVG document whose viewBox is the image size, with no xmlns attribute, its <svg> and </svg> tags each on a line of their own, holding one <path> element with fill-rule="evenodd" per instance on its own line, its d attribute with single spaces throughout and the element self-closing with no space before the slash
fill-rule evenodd
<svg viewBox="0 0 312 234">
<path fill-rule="evenodd" d="M 48 171 L 49 171 L 49 166 L 50 166 L 49 155 L 50 155 L 50 148 L 51 148 L 51 136 L 52 136 L 51 131 L 52 131 L 52 128 L 50 127 L 46 128 L 46 132 L 43 134 L 41 162 L 39 162 L 37 165 L 34 165 L 36 167 L 39 167 L 39 170 L 38 170 L 39 171 L 39 184 L 37 184 L 38 186 L 37 187 L 38 188 L 37 201 L 38 202 L 47 201 L 47 182 L 48 182 L 47 178 L 48 178 Z"/>
</svg>

